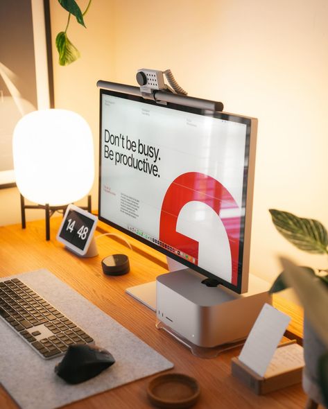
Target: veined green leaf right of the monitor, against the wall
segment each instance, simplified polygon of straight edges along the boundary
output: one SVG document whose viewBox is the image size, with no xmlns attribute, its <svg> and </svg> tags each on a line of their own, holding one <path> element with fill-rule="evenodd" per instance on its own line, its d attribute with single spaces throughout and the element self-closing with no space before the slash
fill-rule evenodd
<svg viewBox="0 0 328 409">
<path fill-rule="evenodd" d="M 327 230 L 318 220 L 299 218 L 287 211 L 269 211 L 278 232 L 290 243 L 305 252 L 327 253 Z"/>
</svg>

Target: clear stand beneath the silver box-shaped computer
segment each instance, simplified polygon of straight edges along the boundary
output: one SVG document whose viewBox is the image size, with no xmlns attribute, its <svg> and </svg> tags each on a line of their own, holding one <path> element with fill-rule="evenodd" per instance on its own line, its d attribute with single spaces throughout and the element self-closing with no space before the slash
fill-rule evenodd
<svg viewBox="0 0 328 409">
<path fill-rule="evenodd" d="M 162 329 L 169 333 L 173 338 L 181 342 L 185 347 L 189 348 L 191 353 L 195 356 L 198 356 L 198 358 L 215 358 L 222 352 L 236 347 L 241 347 L 245 343 L 245 339 L 242 339 L 224 345 L 218 345 L 217 347 L 199 347 L 198 345 L 193 344 L 193 342 L 190 342 L 189 340 L 181 336 L 179 333 L 171 329 L 171 327 L 164 324 L 164 322 L 160 320 L 156 320 L 156 328 Z"/>
</svg>

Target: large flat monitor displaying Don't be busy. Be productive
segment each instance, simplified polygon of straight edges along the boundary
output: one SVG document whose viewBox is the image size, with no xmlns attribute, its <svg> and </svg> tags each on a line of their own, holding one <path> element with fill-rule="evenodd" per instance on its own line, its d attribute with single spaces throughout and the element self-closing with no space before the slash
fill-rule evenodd
<svg viewBox="0 0 328 409">
<path fill-rule="evenodd" d="M 256 119 L 100 96 L 99 219 L 245 292 Z"/>
</svg>

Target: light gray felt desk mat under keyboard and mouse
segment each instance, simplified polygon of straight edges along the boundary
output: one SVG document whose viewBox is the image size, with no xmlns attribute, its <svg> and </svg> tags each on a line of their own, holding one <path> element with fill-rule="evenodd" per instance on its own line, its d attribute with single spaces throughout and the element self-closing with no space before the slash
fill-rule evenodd
<svg viewBox="0 0 328 409">
<path fill-rule="evenodd" d="M 21 279 L 48 302 L 54 304 L 78 326 L 85 329 L 96 340 L 96 345 L 110 351 L 116 360 L 112 367 L 95 378 L 78 385 L 68 385 L 53 371 L 55 364 L 60 362 L 62 357 L 51 360 L 40 358 L 33 348 L 1 320 L 0 383 L 21 408 L 58 408 L 173 367 L 169 360 L 48 270 L 8 277 L 12 278 Z"/>
</svg>

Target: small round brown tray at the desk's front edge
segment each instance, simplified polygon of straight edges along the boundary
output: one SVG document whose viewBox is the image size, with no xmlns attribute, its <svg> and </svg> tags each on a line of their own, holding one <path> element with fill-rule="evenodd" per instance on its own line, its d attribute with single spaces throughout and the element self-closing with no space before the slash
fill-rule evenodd
<svg viewBox="0 0 328 409">
<path fill-rule="evenodd" d="M 159 408 L 190 408 L 198 400 L 200 386 L 184 374 L 164 374 L 153 378 L 147 388 L 148 398 Z"/>
</svg>

